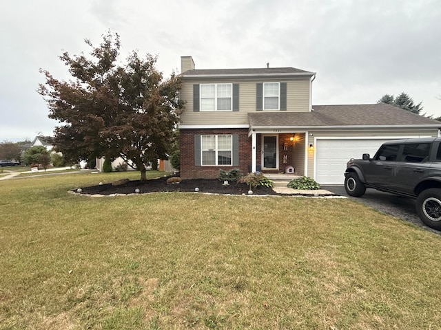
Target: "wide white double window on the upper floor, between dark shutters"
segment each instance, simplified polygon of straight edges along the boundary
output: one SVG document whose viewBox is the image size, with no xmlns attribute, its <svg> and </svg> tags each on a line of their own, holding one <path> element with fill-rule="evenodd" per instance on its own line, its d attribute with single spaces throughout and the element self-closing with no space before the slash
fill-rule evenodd
<svg viewBox="0 0 441 330">
<path fill-rule="evenodd" d="M 233 109 L 232 84 L 201 84 L 201 111 Z"/>
</svg>

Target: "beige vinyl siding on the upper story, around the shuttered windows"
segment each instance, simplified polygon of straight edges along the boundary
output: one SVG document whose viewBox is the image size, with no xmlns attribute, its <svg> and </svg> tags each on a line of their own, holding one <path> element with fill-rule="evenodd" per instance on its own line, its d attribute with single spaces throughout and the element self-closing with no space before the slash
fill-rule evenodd
<svg viewBox="0 0 441 330">
<path fill-rule="evenodd" d="M 309 111 L 309 78 L 294 79 L 184 79 L 181 100 L 185 109 L 183 125 L 248 124 L 249 112 L 256 111 L 256 83 L 287 83 L 287 110 Z M 194 84 L 239 84 L 239 111 L 193 111 Z M 278 111 L 278 110 L 267 110 Z"/>
</svg>

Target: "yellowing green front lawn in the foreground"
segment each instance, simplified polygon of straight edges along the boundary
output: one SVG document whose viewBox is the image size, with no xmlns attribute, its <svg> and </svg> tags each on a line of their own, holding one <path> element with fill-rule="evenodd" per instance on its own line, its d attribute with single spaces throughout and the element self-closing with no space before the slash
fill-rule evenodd
<svg viewBox="0 0 441 330">
<path fill-rule="evenodd" d="M 0 329 L 439 329 L 436 234 L 349 199 L 67 193 L 123 177 L 0 181 Z"/>
</svg>

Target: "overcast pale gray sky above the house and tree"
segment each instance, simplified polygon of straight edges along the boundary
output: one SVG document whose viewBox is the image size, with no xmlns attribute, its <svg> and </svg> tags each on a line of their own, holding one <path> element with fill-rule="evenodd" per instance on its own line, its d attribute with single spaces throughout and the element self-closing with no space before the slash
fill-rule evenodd
<svg viewBox="0 0 441 330">
<path fill-rule="evenodd" d="M 108 30 L 158 69 L 297 67 L 316 72 L 313 104 L 369 104 L 404 91 L 441 116 L 440 0 L 6 0 L 0 12 L 0 142 L 53 135 L 37 94 L 68 79 L 62 52 L 89 54 Z M 438 98 L 437 98 L 438 97 Z"/>
</svg>

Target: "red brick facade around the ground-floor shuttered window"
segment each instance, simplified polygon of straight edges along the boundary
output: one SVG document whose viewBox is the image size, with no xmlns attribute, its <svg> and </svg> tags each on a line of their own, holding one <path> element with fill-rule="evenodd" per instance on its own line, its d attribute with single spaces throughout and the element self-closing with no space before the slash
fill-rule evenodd
<svg viewBox="0 0 441 330">
<path fill-rule="evenodd" d="M 214 179 L 219 175 L 219 168 L 231 170 L 239 168 L 242 173 L 248 173 L 251 165 L 252 140 L 248 137 L 248 129 L 181 129 L 181 178 L 183 179 Z M 239 137 L 239 166 L 196 166 L 194 163 L 194 135 L 232 134 Z"/>
</svg>

